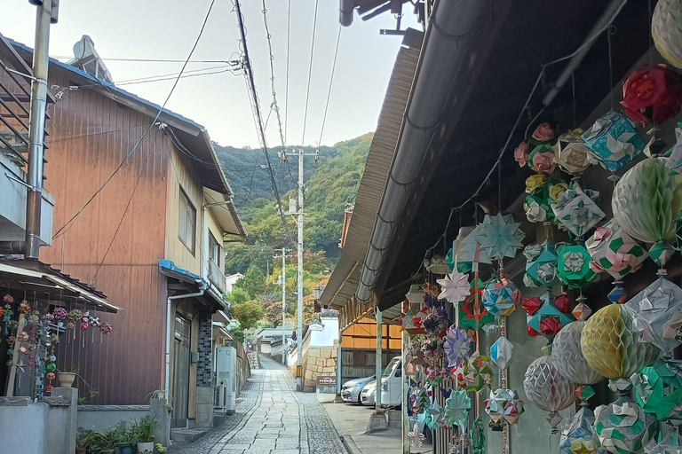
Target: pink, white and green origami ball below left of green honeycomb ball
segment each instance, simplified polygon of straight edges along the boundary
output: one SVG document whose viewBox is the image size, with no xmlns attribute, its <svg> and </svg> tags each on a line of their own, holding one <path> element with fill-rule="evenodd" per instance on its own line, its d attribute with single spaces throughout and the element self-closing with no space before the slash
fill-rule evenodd
<svg viewBox="0 0 682 454">
<path fill-rule="evenodd" d="M 638 270 L 646 259 L 644 248 L 632 239 L 615 220 L 599 227 L 585 243 L 592 257 L 591 270 L 606 271 L 615 279 Z"/>
</svg>

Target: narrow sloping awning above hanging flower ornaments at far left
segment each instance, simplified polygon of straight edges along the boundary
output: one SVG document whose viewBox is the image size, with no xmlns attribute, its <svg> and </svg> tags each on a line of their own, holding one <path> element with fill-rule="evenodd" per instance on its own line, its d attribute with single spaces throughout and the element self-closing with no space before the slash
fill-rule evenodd
<svg viewBox="0 0 682 454">
<path fill-rule="evenodd" d="M 107 301 L 107 295 L 43 262 L 0 260 L 0 286 L 35 294 L 39 301 L 67 301 L 78 309 L 125 310 Z"/>
</svg>

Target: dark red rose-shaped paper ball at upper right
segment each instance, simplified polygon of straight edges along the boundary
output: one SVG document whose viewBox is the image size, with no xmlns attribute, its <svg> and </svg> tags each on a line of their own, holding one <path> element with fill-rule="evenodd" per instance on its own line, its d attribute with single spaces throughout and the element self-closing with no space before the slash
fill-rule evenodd
<svg viewBox="0 0 682 454">
<path fill-rule="evenodd" d="M 625 114 L 632 120 L 661 124 L 682 107 L 680 75 L 665 65 L 643 67 L 623 82 Z"/>
</svg>

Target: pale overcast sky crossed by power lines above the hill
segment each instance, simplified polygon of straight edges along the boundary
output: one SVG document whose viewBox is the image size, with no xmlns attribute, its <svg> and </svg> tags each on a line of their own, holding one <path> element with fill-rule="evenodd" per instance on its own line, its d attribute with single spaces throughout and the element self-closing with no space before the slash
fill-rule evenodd
<svg viewBox="0 0 682 454">
<path fill-rule="evenodd" d="M 192 59 L 230 60 L 238 56 L 239 28 L 233 0 L 216 0 Z M 400 48 L 400 36 L 379 35 L 381 28 L 394 28 L 390 14 L 362 21 L 355 14 L 351 27 L 343 27 L 336 73 L 329 100 L 329 113 L 320 141 L 322 117 L 329 90 L 329 76 L 338 34 L 338 1 L 320 0 L 313 52 L 305 137 L 305 93 L 310 66 L 315 0 L 289 0 L 289 107 L 286 92 L 287 3 L 266 0 L 272 36 L 274 81 L 287 145 L 333 145 L 377 128 L 388 79 Z M 186 59 L 210 0 L 61 0 L 59 22 L 52 26 L 50 55 L 62 61 L 73 57 L 73 45 L 90 35 L 114 82 L 142 77 L 177 74 L 182 63 L 152 63 L 109 59 Z M 247 44 L 256 78 L 264 120 L 271 111 L 272 89 L 262 0 L 242 0 Z M 14 0 L 0 15 L 0 33 L 34 46 L 36 7 L 28 0 Z M 408 10 L 402 27 L 416 27 Z M 221 63 L 190 63 L 186 71 L 225 67 Z M 207 72 L 213 70 L 208 69 Z M 192 74 L 192 73 L 186 73 Z M 196 74 L 196 73 L 194 73 Z M 122 84 L 121 88 L 163 104 L 173 81 Z M 258 148 L 258 135 L 251 114 L 244 77 L 229 72 L 183 78 L 167 108 L 209 130 L 219 145 Z M 281 145 L 274 112 L 267 123 L 268 146 Z"/>
</svg>

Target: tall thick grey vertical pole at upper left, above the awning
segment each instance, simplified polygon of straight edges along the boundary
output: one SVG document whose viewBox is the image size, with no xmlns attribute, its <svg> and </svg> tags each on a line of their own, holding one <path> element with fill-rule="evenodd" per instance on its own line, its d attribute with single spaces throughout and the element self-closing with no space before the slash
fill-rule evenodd
<svg viewBox="0 0 682 454">
<path fill-rule="evenodd" d="M 52 1 L 44 1 L 36 12 L 36 48 L 33 51 L 33 82 L 28 121 L 28 193 L 26 199 L 26 245 L 24 258 L 38 260 L 40 253 L 40 205 L 43 200 L 43 153 L 47 71 L 50 64 Z"/>
</svg>

